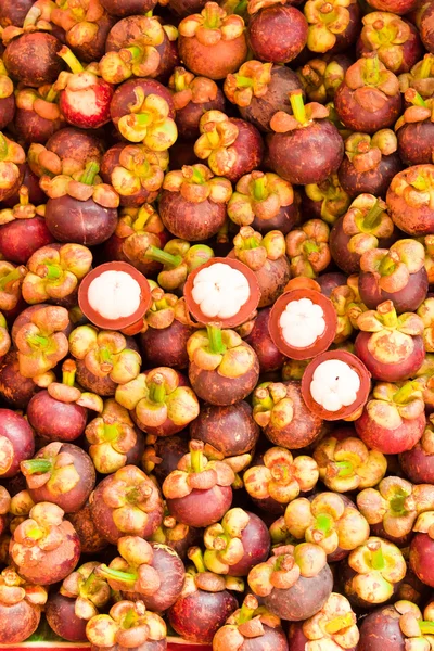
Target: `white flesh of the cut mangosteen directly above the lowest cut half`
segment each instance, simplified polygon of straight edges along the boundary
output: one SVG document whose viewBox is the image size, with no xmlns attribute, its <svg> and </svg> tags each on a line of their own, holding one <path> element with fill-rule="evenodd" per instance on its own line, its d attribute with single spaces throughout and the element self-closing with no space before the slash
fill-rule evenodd
<svg viewBox="0 0 434 651">
<path fill-rule="evenodd" d="M 307 348 L 326 331 L 324 311 L 310 298 L 290 301 L 280 315 L 282 336 L 293 348 Z"/>
</svg>

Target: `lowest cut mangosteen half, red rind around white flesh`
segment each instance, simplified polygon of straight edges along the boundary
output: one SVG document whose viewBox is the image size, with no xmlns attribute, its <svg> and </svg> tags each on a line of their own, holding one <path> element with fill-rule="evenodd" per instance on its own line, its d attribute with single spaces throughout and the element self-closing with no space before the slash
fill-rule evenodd
<svg viewBox="0 0 434 651">
<path fill-rule="evenodd" d="M 366 366 L 347 350 L 318 355 L 302 378 L 302 396 L 307 407 L 328 421 L 348 419 L 361 409 L 371 388 Z"/>
</svg>

